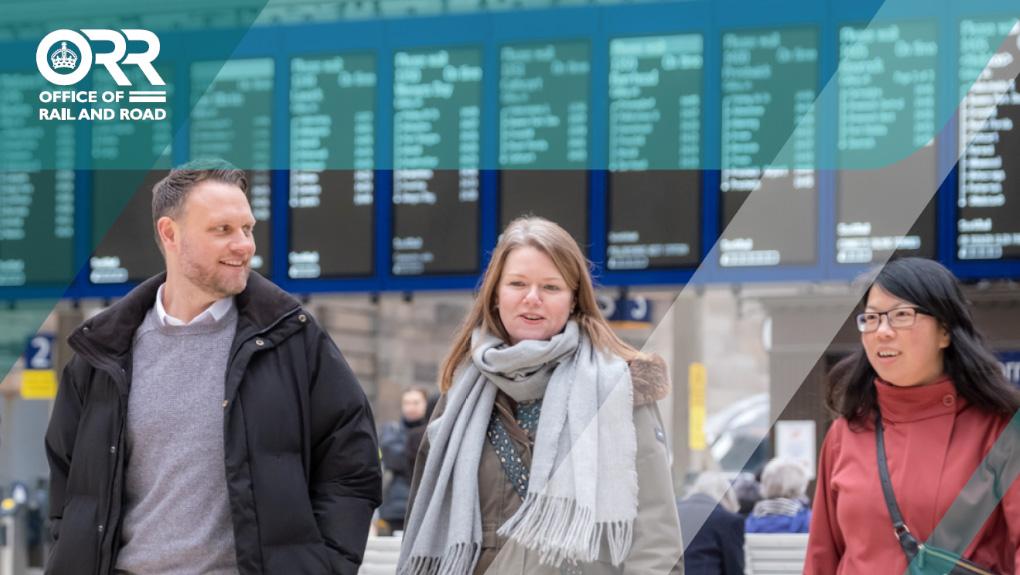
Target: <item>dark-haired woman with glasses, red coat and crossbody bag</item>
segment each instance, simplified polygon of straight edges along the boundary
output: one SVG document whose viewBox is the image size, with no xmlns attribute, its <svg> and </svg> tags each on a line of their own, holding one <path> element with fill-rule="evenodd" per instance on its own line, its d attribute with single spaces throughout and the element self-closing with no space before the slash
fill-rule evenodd
<svg viewBox="0 0 1020 575">
<path fill-rule="evenodd" d="M 840 417 L 819 459 L 805 565 L 812 575 L 899 575 L 908 557 L 912 573 L 926 560 L 930 567 L 945 550 L 929 536 L 938 528 L 940 541 L 953 538 L 939 521 L 1020 407 L 940 264 L 891 261 L 862 303 L 862 346 L 830 373 L 827 403 Z M 988 507 L 990 516 L 978 513 L 973 489 L 966 493 L 973 515 L 963 523 L 973 534 L 959 530 L 966 540 L 956 544 L 971 565 L 953 573 L 1020 569 L 1020 481 L 998 488 L 1002 501 Z"/>
</svg>

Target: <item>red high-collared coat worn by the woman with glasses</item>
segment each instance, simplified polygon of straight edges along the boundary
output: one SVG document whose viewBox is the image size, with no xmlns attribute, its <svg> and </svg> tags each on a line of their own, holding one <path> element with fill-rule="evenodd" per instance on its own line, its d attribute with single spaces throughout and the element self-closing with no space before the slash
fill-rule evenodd
<svg viewBox="0 0 1020 575">
<path fill-rule="evenodd" d="M 892 489 L 907 526 L 924 541 L 1009 418 L 969 405 L 949 379 L 918 387 L 876 381 L 875 387 Z M 856 428 L 840 418 L 822 445 L 804 567 L 810 575 L 907 570 L 882 498 L 874 425 Z M 998 573 L 1020 567 L 1020 480 L 1006 491 L 964 557 Z"/>
</svg>

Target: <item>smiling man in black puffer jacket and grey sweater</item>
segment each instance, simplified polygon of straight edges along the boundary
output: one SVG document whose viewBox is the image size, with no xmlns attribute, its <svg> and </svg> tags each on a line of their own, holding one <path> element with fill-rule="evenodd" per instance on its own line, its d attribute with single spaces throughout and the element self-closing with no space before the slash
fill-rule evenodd
<svg viewBox="0 0 1020 575">
<path fill-rule="evenodd" d="M 153 188 L 166 272 L 68 337 L 47 573 L 354 575 L 381 479 L 340 351 L 257 273 L 243 171 Z"/>
</svg>

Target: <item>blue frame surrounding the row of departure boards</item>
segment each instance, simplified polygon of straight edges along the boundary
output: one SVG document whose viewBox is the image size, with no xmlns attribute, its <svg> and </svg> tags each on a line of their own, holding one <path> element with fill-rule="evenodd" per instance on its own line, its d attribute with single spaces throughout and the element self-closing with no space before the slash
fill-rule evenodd
<svg viewBox="0 0 1020 575">
<path fill-rule="evenodd" d="M 882 7 L 883 17 L 916 21 L 915 11 L 904 8 L 897 12 L 896 2 Z M 900 3 L 902 4 L 902 3 Z M 590 76 L 591 108 L 589 146 L 589 254 L 594 271 L 605 285 L 677 285 L 691 280 L 699 282 L 763 282 L 763 281 L 845 281 L 865 271 L 869 266 L 836 264 L 835 240 L 835 98 L 823 97 L 817 115 L 816 157 L 818 238 L 816 261 L 813 265 L 722 268 L 711 257 L 713 245 L 721 232 L 721 202 L 719 193 L 720 160 L 720 59 L 721 35 L 729 31 L 790 29 L 811 27 L 819 35 L 819 91 L 824 94 L 827 83 L 835 82 L 838 64 L 837 34 L 839 27 L 867 22 L 882 3 L 867 0 L 848 5 L 840 2 L 805 3 L 779 0 L 766 4 L 749 4 L 736 0 L 718 2 L 696 1 L 638 5 L 607 5 L 559 7 L 524 12 L 491 12 L 442 16 L 405 17 L 386 20 L 348 20 L 329 23 L 302 23 L 253 28 L 247 31 L 204 30 L 195 32 L 156 31 L 166 53 L 186 56 L 171 62 L 173 66 L 174 103 L 177 114 L 190 110 L 191 86 L 189 72 L 194 62 L 220 60 L 223 54 L 232 59 L 272 58 L 274 88 L 272 94 L 272 269 L 270 277 L 283 289 L 301 295 L 318 293 L 379 293 L 417 292 L 432 290 L 471 290 L 476 288 L 481 270 L 488 264 L 496 245 L 498 229 L 497 113 L 499 101 L 499 49 L 509 43 L 584 40 L 591 47 Z M 961 7 L 950 0 L 928 3 L 927 21 L 937 28 L 939 46 L 939 77 L 937 117 L 955 117 L 959 105 L 957 69 L 959 65 L 959 22 L 963 17 L 1003 16 L 1003 3 L 980 0 Z M 908 7 L 916 7 L 910 4 Z M 738 8 L 738 9 L 737 9 Z M 966 14 L 965 14 L 966 12 Z M 704 41 L 703 117 L 701 186 L 701 248 L 698 267 L 677 267 L 644 271 L 609 271 L 603 265 L 606 254 L 608 172 L 603 169 L 608 156 L 608 53 L 609 42 L 616 38 L 667 34 L 701 34 Z M 240 38 L 240 42 L 237 39 Z M 4 43 L 9 57 L 0 61 L 0 71 L 35 71 L 27 68 L 34 62 L 34 42 Z M 393 222 L 393 58 L 403 49 L 425 47 L 473 47 L 481 52 L 482 74 L 481 154 L 482 167 L 479 191 L 478 273 L 394 276 L 391 273 Z M 291 59 L 324 54 L 372 53 L 376 61 L 376 114 L 374 170 L 374 269 L 369 277 L 290 279 L 287 276 L 288 239 L 290 237 L 289 179 L 290 164 L 289 87 Z M 952 70 L 948 72 L 947 70 Z M 834 88 L 834 87 L 833 87 Z M 834 90 L 833 90 L 834 93 Z M 187 117 L 174 135 L 173 161 L 189 158 Z M 955 168 L 958 147 L 957 123 L 948 121 L 938 140 L 936 156 L 938 171 L 947 176 L 939 184 L 936 210 L 936 254 L 960 277 L 981 278 L 1020 277 L 1020 261 L 960 261 L 956 258 L 956 194 L 958 174 Z M 78 165 L 90 165 L 91 130 L 88 122 L 75 125 Z M 714 166 L 714 167 L 713 167 Z M 134 284 L 92 284 L 89 281 L 88 260 L 91 252 L 92 177 L 88 169 L 75 170 L 75 242 L 74 265 L 79 270 L 67 285 L 31 284 L 0 288 L 0 299 L 38 298 L 115 298 Z M 697 272 L 697 273 L 696 273 Z"/>
</svg>

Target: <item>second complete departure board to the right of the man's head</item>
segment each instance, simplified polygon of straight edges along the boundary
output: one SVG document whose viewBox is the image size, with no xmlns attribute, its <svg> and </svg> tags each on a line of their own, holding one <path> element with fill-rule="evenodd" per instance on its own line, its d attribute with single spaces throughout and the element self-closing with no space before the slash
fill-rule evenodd
<svg viewBox="0 0 1020 575">
<path fill-rule="evenodd" d="M 481 51 L 394 55 L 394 275 L 476 273 Z"/>
</svg>

